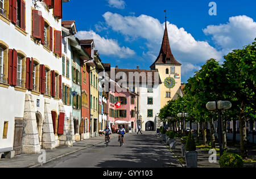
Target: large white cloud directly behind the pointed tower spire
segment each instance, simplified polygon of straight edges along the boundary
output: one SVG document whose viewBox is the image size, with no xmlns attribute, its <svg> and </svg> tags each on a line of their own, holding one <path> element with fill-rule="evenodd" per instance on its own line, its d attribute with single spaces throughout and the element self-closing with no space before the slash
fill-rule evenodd
<svg viewBox="0 0 256 179">
<path fill-rule="evenodd" d="M 125 35 L 126 40 L 146 39 L 148 52 L 144 52 L 144 55 L 148 54 L 149 57 L 154 58 L 153 61 L 156 59 L 155 56 L 158 56 L 162 43 L 165 23 L 161 24 L 158 19 L 147 15 L 122 16 L 106 12 L 103 16 L 106 24 L 114 31 Z M 167 28 L 172 53 L 177 61 L 202 63 L 210 58 L 218 60 L 222 58 L 221 52 L 210 46 L 208 42 L 196 41 L 184 28 L 177 28 L 176 25 L 169 22 L 167 22 Z"/>
</svg>

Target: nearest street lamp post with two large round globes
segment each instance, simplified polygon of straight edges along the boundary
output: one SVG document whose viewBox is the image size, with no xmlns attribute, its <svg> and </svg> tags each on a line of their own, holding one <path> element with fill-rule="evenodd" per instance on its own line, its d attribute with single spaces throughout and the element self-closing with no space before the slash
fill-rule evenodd
<svg viewBox="0 0 256 179">
<path fill-rule="evenodd" d="M 206 107 L 208 110 L 217 110 L 218 112 L 218 143 L 220 145 L 221 156 L 223 154 L 221 109 L 230 109 L 232 104 L 230 101 L 211 101 L 207 103 Z"/>
</svg>

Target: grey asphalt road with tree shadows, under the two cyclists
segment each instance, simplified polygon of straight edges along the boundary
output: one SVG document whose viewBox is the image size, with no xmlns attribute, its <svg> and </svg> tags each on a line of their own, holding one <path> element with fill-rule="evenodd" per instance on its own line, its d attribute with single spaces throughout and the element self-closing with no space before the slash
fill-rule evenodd
<svg viewBox="0 0 256 179">
<path fill-rule="evenodd" d="M 106 147 L 104 143 L 86 148 L 75 154 L 43 165 L 44 168 L 168 168 L 181 167 L 179 162 L 155 132 L 142 135 L 127 134 L 125 145 L 120 147 L 114 138 Z"/>
</svg>

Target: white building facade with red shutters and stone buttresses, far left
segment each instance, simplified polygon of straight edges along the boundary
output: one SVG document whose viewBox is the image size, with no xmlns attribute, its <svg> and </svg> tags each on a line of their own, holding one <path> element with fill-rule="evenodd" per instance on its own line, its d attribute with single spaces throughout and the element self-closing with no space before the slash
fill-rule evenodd
<svg viewBox="0 0 256 179">
<path fill-rule="evenodd" d="M 61 0 L 0 11 L 0 153 L 71 146 L 62 98 Z"/>
</svg>

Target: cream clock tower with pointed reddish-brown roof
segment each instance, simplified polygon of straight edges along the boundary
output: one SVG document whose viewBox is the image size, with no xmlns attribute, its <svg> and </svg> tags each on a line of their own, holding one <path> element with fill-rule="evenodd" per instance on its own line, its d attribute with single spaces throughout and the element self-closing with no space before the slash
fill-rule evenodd
<svg viewBox="0 0 256 179">
<path fill-rule="evenodd" d="M 176 61 L 171 52 L 167 23 L 164 29 L 163 42 L 156 61 L 150 66 L 151 70 L 158 70 L 162 84 L 160 86 L 160 108 L 174 96 L 181 86 L 181 64 Z"/>
</svg>

